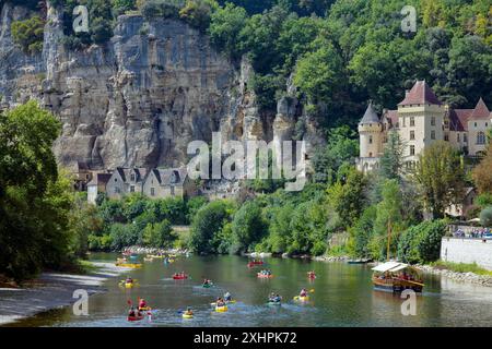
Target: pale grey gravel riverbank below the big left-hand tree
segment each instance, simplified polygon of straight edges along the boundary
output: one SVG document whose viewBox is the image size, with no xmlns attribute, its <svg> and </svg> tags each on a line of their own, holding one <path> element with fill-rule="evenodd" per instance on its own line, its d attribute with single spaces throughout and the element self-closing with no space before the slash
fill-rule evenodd
<svg viewBox="0 0 492 349">
<path fill-rule="evenodd" d="M 89 275 L 43 273 L 23 288 L 0 288 L 0 326 L 38 313 L 73 304 L 78 289 L 89 294 L 104 292 L 103 282 L 131 269 L 113 263 L 91 263 Z"/>
</svg>

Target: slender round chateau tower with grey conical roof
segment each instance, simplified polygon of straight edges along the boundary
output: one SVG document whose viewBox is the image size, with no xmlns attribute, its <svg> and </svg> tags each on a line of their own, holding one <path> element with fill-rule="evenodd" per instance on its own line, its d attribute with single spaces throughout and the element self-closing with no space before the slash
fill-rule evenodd
<svg viewBox="0 0 492 349">
<path fill-rule="evenodd" d="M 360 157 L 358 169 L 363 172 L 378 167 L 383 152 L 383 123 L 380 122 L 373 104 L 370 103 L 364 117 L 359 122 Z"/>
</svg>

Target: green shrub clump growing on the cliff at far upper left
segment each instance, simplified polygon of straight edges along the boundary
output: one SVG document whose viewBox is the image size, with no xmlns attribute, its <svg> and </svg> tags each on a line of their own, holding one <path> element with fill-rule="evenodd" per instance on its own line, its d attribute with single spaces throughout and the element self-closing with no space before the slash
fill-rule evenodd
<svg viewBox="0 0 492 349">
<path fill-rule="evenodd" d="M 12 23 L 13 41 L 21 46 L 26 53 L 36 53 L 43 50 L 45 22 L 37 15 Z"/>
</svg>

